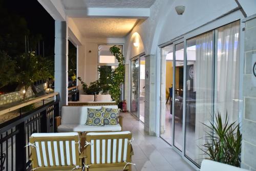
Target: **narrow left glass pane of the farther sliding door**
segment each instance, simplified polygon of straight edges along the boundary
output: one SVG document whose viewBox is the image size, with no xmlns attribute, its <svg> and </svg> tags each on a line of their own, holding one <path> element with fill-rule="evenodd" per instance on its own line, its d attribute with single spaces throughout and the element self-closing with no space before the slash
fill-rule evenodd
<svg viewBox="0 0 256 171">
<path fill-rule="evenodd" d="M 132 60 L 131 66 L 131 113 L 139 118 L 138 100 L 139 100 L 139 72 L 140 72 L 139 58 Z"/>
</svg>

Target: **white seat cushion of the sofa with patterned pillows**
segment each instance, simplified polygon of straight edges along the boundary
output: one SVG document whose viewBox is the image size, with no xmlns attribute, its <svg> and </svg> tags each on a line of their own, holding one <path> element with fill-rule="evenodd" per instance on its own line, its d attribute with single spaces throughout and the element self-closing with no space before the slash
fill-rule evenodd
<svg viewBox="0 0 256 171">
<path fill-rule="evenodd" d="M 59 133 L 63 132 L 93 132 L 93 131 L 121 131 L 120 124 L 104 125 L 104 126 L 91 126 L 81 124 L 60 124 L 57 128 Z"/>
</svg>

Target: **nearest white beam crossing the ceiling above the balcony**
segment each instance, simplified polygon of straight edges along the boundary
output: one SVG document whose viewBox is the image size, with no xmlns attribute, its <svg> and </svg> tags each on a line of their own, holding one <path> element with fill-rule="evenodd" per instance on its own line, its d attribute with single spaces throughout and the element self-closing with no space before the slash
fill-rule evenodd
<svg viewBox="0 0 256 171">
<path fill-rule="evenodd" d="M 150 8 L 84 8 L 65 9 L 69 17 L 102 17 L 102 18 L 148 18 Z"/>
</svg>

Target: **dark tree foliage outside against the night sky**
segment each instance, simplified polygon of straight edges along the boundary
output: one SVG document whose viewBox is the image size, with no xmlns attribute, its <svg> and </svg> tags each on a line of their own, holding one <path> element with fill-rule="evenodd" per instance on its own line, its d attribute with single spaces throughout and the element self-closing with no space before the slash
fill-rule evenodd
<svg viewBox="0 0 256 171">
<path fill-rule="evenodd" d="M 0 0 L 0 15 L 5 16 L 0 20 L 0 89 L 5 92 L 6 88 L 15 89 L 12 85 L 18 84 L 18 89 L 27 90 L 31 86 L 37 94 L 33 83 L 53 78 L 53 60 L 36 55 L 42 36 L 31 34 L 26 19 L 10 13 L 3 2 Z"/>
</svg>

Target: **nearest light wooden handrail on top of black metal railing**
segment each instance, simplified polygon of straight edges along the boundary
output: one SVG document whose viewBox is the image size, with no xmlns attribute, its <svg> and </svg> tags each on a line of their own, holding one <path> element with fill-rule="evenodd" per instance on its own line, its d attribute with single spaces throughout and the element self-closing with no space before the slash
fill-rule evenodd
<svg viewBox="0 0 256 171">
<path fill-rule="evenodd" d="M 24 106 L 36 103 L 36 102 L 41 101 L 41 100 L 44 100 L 44 99 L 47 99 L 47 98 L 50 98 L 50 97 L 54 97 L 58 94 L 59 94 L 58 92 L 54 92 L 54 93 L 46 94 L 46 95 L 43 95 L 43 96 L 40 96 L 40 97 L 29 99 L 27 101 L 21 101 L 21 102 L 17 102 L 17 103 L 9 103 L 9 104 L 5 104 L 5 105 L 1 105 L 0 106 L 0 115 L 6 114 L 8 112 L 15 111 L 19 108 L 23 108 Z"/>
</svg>

